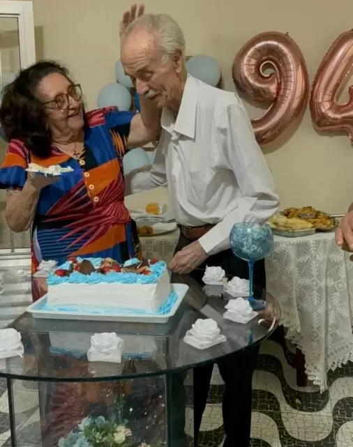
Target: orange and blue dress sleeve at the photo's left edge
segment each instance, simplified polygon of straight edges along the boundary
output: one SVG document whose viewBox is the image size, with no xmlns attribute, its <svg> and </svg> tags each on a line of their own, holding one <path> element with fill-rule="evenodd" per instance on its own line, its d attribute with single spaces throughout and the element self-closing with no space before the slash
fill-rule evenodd
<svg viewBox="0 0 353 447">
<path fill-rule="evenodd" d="M 22 189 L 27 180 L 29 151 L 20 140 L 12 139 L 0 167 L 0 189 Z"/>
</svg>

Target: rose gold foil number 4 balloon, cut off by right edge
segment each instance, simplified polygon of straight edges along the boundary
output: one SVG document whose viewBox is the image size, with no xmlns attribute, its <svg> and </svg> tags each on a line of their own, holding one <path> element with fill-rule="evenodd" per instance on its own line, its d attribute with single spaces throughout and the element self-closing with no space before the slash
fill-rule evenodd
<svg viewBox="0 0 353 447">
<path fill-rule="evenodd" d="M 310 95 L 310 113 L 317 130 L 344 131 L 353 142 L 353 86 L 349 100 L 338 104 L 345 78 L 353 66 L 353 30 L 341 34 L 325 54 Z"/>
</svg>

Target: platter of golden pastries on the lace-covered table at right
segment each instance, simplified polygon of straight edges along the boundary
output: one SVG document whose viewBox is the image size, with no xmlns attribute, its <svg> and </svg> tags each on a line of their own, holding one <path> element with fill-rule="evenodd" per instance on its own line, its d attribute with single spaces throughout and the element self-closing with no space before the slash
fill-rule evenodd
<svg viewBox="0 0 353 447">
<path fill-rule="evenodd" d="M 267 223 L 275 234 L 288 237 L 329 232 L 337 226 L 335 218 L 323 211 L 318 211 L 313 206 L 286 208 L 281 213 L 273 215 Z"/>
</svg>

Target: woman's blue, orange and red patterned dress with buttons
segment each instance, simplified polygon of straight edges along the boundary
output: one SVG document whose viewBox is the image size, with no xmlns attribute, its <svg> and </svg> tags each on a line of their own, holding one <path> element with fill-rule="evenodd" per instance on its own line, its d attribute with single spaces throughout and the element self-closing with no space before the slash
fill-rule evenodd
<svg viewBox="0 0 353 447">
<path fill-rule="evenodd" d="M 55 146 L 50 157 L 38 158 L 20 140 L 10 141 L 0 169 L 2 189 L 23 188 L 30 162 L 75 169 L 40 193 L 31 231 L 32 273 L 42 260 L 60 264 L 92 256 L 122 262 L 140 254 L 135 222 L 123 202 L 122 160 L 133 116 L 116 107 L 88 112 L 80 162 Z"/>
</svg>

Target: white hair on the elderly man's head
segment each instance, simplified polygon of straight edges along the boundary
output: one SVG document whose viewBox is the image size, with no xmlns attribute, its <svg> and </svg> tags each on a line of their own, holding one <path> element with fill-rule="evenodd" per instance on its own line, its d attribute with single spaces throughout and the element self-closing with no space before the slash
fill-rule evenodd
<svg viewBox="0 0 353 447">
<path fill-rule="evenodd" d="M 123 33 L 126 38 L 137 29 L 145 29 L 158 39 L 159 50 L 162 53 L 162 63 L 179 50 L 185 55 L 185 38 L 181 27 L 167 14 L 144 14 L 131 22 Z"/>
</svg>

